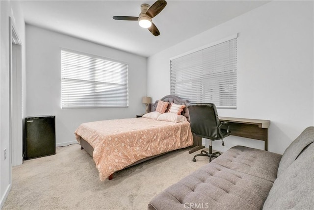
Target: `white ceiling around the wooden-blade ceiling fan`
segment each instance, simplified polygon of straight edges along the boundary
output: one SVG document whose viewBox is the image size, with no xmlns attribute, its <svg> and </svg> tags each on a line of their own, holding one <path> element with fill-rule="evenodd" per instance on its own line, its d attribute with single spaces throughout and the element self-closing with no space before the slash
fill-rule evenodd
<svg viewBox="0 0 314 210">
<path fill-rule="evenodd" d="M 27 24 L 40 26 L 145 57 L 255 9 L 262 0 L 167 0 L 153 18 L 159 36 L 137 21 L 112 16 L 138 16 L 140 5 L 155 0 L 23 0 Z"/>
</svg>

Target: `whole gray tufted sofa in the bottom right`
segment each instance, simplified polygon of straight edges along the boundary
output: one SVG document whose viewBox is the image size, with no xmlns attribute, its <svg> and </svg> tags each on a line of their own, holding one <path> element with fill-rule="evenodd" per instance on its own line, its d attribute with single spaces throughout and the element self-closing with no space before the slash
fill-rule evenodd
<svg viewBox="0 0 314 210">
<path fill-rule="evenodd" d="M 235 146 L 157 195 L 148 210 L 314 210 L 314 127 L 283 155 Z"/>
</svg>

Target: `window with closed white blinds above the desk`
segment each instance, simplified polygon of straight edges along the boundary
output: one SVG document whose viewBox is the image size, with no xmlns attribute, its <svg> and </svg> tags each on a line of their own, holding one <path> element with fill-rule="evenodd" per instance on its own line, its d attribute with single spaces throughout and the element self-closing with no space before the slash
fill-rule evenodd
<svg viewBox="0 0 314 210">
<path fill-rule="evenodd" d="M 236 36 L 170 60 L 171 94 L 236 108 Z"/>
</svg>

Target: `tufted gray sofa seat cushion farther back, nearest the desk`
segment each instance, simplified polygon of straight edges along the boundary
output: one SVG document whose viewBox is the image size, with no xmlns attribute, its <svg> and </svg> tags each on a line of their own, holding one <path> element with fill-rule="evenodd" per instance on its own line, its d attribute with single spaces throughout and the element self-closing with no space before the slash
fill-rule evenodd
<svg viewBox="0 0 314 210">
<path fill-rule="evenodd" d="M 271 182 L 277 178 L 281 155 L 264 150 L 235 146 L 212 162 Z"/>
</svg>

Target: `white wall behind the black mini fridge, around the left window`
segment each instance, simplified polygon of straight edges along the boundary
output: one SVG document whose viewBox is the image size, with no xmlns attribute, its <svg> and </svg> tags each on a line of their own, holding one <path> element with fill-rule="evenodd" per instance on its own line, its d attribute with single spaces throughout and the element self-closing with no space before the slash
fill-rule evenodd
<svg viewBox="0 0 314 210">
<path fill-rule="evenodd" d="M 105 39 L 105 37 L 104 37 Z M 55 115 L 56 145 L 75 143 L 81 123 L 136 117 L 145 112 L 146 57 L 26 25 L 26 115 Z M 129 107 L 61 109 L 61 48 L 99 55 L 129 64 Z"/>
</svg>

